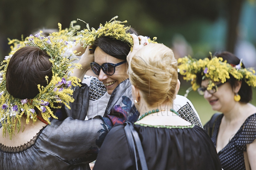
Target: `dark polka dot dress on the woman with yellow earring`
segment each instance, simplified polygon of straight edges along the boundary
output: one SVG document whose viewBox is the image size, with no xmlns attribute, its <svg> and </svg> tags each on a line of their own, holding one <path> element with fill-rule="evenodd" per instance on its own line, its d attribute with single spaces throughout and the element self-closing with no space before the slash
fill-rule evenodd
<svg viewBox="0 0 256 170">
<path fill-rule="evenodd" d="M 212 141 L 216 147 L 218 130 L 223 114 L 215 121 Z M 208 131 L 209 122 L 204 126 Z M 246 144 L 252 143 L 256 138 L 256 113 L 250 115 L 242 124 L 241 128 L 236 132 L 235 136 L 229 141 L 218 155 L 222 168 L 224 170 L 245 170 L 244 151 L 246 151 Z"/>
</svg>

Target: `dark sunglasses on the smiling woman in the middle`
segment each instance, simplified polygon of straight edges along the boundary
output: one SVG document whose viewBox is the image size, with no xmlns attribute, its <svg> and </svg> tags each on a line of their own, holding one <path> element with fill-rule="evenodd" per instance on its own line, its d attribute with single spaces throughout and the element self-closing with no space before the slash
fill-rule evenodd
<svg viewBox="0 0 256 170">
<path fill-rule="evenodd" d="M 117 64 L 103 63 L 100 66 L 97 63 L 92 62 L 91 63 L 91 68 L 92 68 L 92 71 L 94 72 L 94 74 L 96 74 L 96 75 L 100 75 L 100 69 L 102 69 L 102 71 L 107 75 L 113 75 L 116 72 L 116 66 L 119 66 L 119 65 L 124 64 L 124 63 L 126 63 L 126 61 L 122 61 L 122 62 L 117 63 Z"/>
</svg>

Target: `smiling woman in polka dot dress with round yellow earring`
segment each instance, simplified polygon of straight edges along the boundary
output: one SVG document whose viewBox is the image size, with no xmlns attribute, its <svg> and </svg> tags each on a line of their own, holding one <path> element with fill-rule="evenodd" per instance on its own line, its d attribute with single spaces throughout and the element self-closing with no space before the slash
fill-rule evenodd
<svg viewBox="0 0 256 170">
<path fill-rule="evenodd" d="M 256 86 L 255 71 L 230 52 L 216 57 L 178 62 L 181 74 L 192 80 L 192 87 L 220 114 L 204 125 L 212 138 L 224 170 L 256 169 L 256 107 L 252 87 Z M 191 76 L 191 77 L 190 77 Z M 210 128 L 212 133 L 210 133 Z"/>
</svg>

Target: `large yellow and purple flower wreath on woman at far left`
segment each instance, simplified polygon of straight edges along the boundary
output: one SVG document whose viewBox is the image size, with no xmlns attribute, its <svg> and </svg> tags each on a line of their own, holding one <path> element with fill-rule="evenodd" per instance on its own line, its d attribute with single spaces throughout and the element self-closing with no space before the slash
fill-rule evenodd
<svg viewBox="0 0 256 170">
<path fill-rule="evenodd" d="M 59 31 L 61 31 L 61 24 L 58 23 Z M 68 33 L 68 31 L 66 31 Z M 50 56 L 49 61 L 52 63 L 52 79 L 48 82 L 46 76 L 47 86 L 38 85 L 39 94 L 33 99 L 20 99 L 15 98 L 6 90 L 6 70 L 12 55 L 24 46 L 36 46 L 39 49 L 44 50 Z M 22 115 L 26 115 L 26 123 L 28 124 L 30 118 L 33 122 L 37 121 L 37 114 L 34 110 L 36 107 L 42 113 L 42 117 L 49 124 L 49 117 L 53 117 L 54 113 L 52 108 L 60 108 L 61 106 L 54 106 L 54 103 L 63 103 L 66 107 L 69 107 L 69 102 L 74 102 L 74 99 L 70 96 L 73 94 L 71 85 L 79 85 L 79 81 L 76 77 L 68 75 L 72 69 L 80 68 L 80 64 L 72 63 L 75 60 L 71 57 L 74 54 L 65 55 L 65 52 L 71 49 L 71 46 L 66 41 L 65 34 L 60 32 L 54 32 L 50 36 L 43 36 L 42 31 L 27 37 L 24 43 L 20 44 L 15 51 L 12 51 L 9 56 L 5 57 L 5 60 L 1 63 L 0 72 L 0 119 L 3 127 L 3 136 L 6 134 L 6 130 L 10 134 L 10 139 L 15 131 L 15 125 L 17 123 L 18 131 L 21 128 Z M 14 118 L 12 118 L 12 116 Z M 17 122 L 16 122 L 17 121 Z"/>
</svg>

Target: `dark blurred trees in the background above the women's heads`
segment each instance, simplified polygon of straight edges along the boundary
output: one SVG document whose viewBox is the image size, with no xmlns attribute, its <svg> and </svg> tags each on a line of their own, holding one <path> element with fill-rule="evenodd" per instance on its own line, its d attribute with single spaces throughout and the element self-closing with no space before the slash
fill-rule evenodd
<svg viewBox="0 0 256 170">
<path fill-rule="evenodd" d="M 69 27 L 77 18 L 97 28 L 118 15 L 120 20 L 128 20 L 142 35 L 164 35 L 167 27 L 175 27 L 194 18 L 215 21 L 219 16 L 228 18 L 226 50 L 233 52 L 236 40 L 241 4 L 244 0 L 1 0 L 0 1 L 0 60 L 10 51 L 7 38 L 30 35 L 39 28 Z M 253 0 L 251 0 L 253 1 Z M 85 24 L 78 22 L 81 28 Z M 190 29 L 190 28 L 186 28 Z M 198 29 L 193 28 L 193 29 Z M 193 30 L 190 31 L 193 32 Z M 199 32 L 199 30 L 198 30 Z M 196 34 L 196 33 L 192 33 Z M 193 38 L 196 35 L 192 36 Z M 168 38 L 162 36 L 162 39 Z M 197 38 L 197 37 L 196 37 Z M 162 41 L 162 40 L 161 40 Z"/>
</svg>

